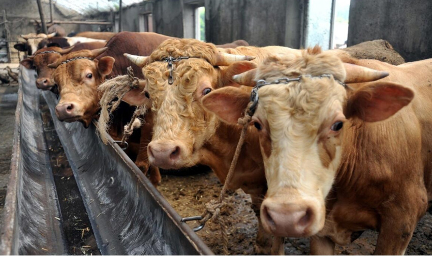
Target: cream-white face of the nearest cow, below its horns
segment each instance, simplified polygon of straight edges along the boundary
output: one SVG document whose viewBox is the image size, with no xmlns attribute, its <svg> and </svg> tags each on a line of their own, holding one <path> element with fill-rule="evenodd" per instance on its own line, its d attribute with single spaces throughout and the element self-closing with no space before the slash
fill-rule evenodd
<svg viewBox="0 0 432 256">
<path fill-rule="evenodd" d="M 258 92 L 251 123 L 268 184 L 264 228 L 276 236 L 314 235 L 324 227 L 324 200 L 341 161 L 345 88 L 333 78 L 303 78 Z"/>
</svg>

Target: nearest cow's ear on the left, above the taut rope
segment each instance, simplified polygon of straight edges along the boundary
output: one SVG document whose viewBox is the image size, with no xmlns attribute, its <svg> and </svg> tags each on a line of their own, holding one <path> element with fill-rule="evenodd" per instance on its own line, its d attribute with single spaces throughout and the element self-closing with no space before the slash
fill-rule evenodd
<svg viewBox="0 0 432 256">
<path fill-rule="evenodd" d="M 202 97 L 202 104 L 229 124 L 237 124 L 250 102 L 251 94 L 235 87 L 214 90 Z"/>
</svg>

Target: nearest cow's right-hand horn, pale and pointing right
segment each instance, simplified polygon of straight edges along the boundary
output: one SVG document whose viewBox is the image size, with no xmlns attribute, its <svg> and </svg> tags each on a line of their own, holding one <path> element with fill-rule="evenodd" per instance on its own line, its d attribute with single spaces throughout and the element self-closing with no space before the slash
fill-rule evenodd
<svg viewBox="0 0 432 256">
<path fill-rule="evenodd" d="M 344 63 L 345 71 L 347 76 L 345 78 L 345 83 L 364 83 L 380 80 L 389 75 L 386 71 L 378 71 L 375 69 Z"/>
</svg>

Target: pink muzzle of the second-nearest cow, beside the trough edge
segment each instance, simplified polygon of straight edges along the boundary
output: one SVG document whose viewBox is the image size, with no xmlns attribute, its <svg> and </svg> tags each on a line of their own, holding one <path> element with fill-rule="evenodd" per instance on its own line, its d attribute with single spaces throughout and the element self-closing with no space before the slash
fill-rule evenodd
<svg viewBox="0 0 432 256">
<path fill-rule="evenodd" d="M 178 169 L 183 166 L 184 146 L 175 142 L 151 141 L 147 146 L 150 165 L 164 169 Z"/>
</svg>

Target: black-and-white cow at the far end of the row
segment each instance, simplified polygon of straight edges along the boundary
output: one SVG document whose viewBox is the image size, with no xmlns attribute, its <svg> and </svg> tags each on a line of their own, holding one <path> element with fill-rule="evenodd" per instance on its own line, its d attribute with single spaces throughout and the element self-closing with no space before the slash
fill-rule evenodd
<svg viewBox="0 0 432 256">
<path fill-rule="evenodd" d="M 87 43 L 87 42 L 106 43 L 105 40 L 83 38 L 80 36 L 73 36 L 71 38 L 66 36 L 58 37 L 55 36 L 55 32 L 51 34 L 29 33 L 26 35 L 21 35 L 21 37 L 25 39 L 26 42 L 17 43 L 14 45 L 14 48 L 21 52 L 27 52 L 27 55 L 33 55 L 36 53 L 37 50 L 45 47 L 50 47 L 50 46 L 64 48 L 64 47 L 73 46 L 77 43 Z"/>
</svg>

